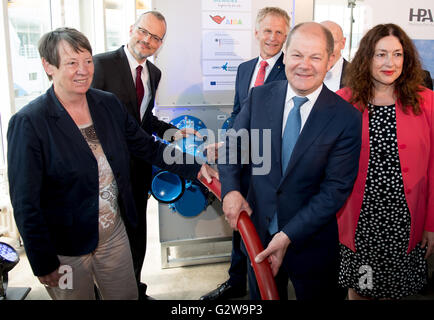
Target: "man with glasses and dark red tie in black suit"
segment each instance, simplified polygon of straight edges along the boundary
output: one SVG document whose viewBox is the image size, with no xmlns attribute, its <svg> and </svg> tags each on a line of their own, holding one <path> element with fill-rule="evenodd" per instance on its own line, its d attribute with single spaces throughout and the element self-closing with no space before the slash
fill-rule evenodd
<svg viewBox="0 0 434 320">
<path fill-rule="evenodd" d="M 176 127 L 152 114 L 161 71 L 147 58 L 161 47 L 165 34 L 166 20 L 161 13 L 150 11 L 142 14 L 130 27 L 130 39 L 126 46 L 94 56 L 95 75 L 92 82 L 94 88 L 114 93 L 147 133 L 155 133 L 161 138 L 166 130 Z M 179 131 L 172 140 L 185 134 L 185 131 Z M 138 227 L 128 228 L 127 233 L 139 287 L 139 299 L 143 299 L 147 297 L 146 284 L 141 283 L 140 274 L 146 253 L 146 205 L 152 166 L 134 157 L 130 165 Z"/>
</svg>

